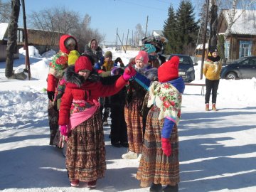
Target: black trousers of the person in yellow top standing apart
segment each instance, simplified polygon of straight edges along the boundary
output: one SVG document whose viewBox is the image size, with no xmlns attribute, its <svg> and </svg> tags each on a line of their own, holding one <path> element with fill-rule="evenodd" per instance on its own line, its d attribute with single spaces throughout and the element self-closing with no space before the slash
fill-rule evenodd
<svg viewBox="0 0 256 192">
<path fill-rule="evenodd" d="M 210 92 L 212 94 L 212 103 L 216 103 L 219 82 L 220 80 L 206 79 L 206 102 L 205 103 L 209 103 Z"/>
</svg>

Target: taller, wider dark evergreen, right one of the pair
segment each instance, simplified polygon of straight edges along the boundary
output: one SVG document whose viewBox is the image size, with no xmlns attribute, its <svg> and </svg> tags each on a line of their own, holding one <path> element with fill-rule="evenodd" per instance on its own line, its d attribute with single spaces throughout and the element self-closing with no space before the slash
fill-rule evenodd
<svg viewBox="0 0 256 192">
<path fill-rule="evenodd" d="M 176 52 L 192 55 L 196 48 L 198 21 L 195 21 L 190 0 L 182 0 L 176 11 Z"/>
</svg>

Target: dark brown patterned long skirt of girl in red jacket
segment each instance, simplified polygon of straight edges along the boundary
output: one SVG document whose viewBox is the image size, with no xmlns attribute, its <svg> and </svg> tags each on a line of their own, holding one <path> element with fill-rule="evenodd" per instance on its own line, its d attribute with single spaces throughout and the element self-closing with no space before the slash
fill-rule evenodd
<svg viewBox="0 0 256 192">
<path fill-rule="evenodd" d="M 106 151 L 100 111 L 75 127 L 68 136 L 66 168 L 70 181 L 93 181 L 106 170 Z"/>
</svg>

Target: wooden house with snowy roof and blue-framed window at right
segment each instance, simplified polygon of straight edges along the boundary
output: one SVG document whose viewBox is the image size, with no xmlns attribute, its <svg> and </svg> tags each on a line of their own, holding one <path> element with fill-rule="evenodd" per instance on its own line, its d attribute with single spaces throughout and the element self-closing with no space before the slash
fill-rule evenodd
<svg viewBox="0 0 256 192">
<path fill-rule="evenodd" d="M 224 34 L 230 23 L 232 10 L 220 11 L 218 34 Z M 229 61 L 256 55 L 256 10 L 236 9 L 230 34 L 225 39 L 225 58 Z"/>
</svg>

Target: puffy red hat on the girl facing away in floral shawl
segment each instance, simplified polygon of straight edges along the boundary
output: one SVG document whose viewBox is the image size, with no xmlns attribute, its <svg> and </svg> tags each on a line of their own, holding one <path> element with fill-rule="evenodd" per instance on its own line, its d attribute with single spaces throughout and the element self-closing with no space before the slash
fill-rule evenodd
<svg viewBox="0 0 256 192">
<path fill-rule="evenodd" d="M 167 82 L 178 78 L 178 56 L 174 56 L 171 60 L 163 63 L 158 69 L 159 82 Z"/>
</svg>

